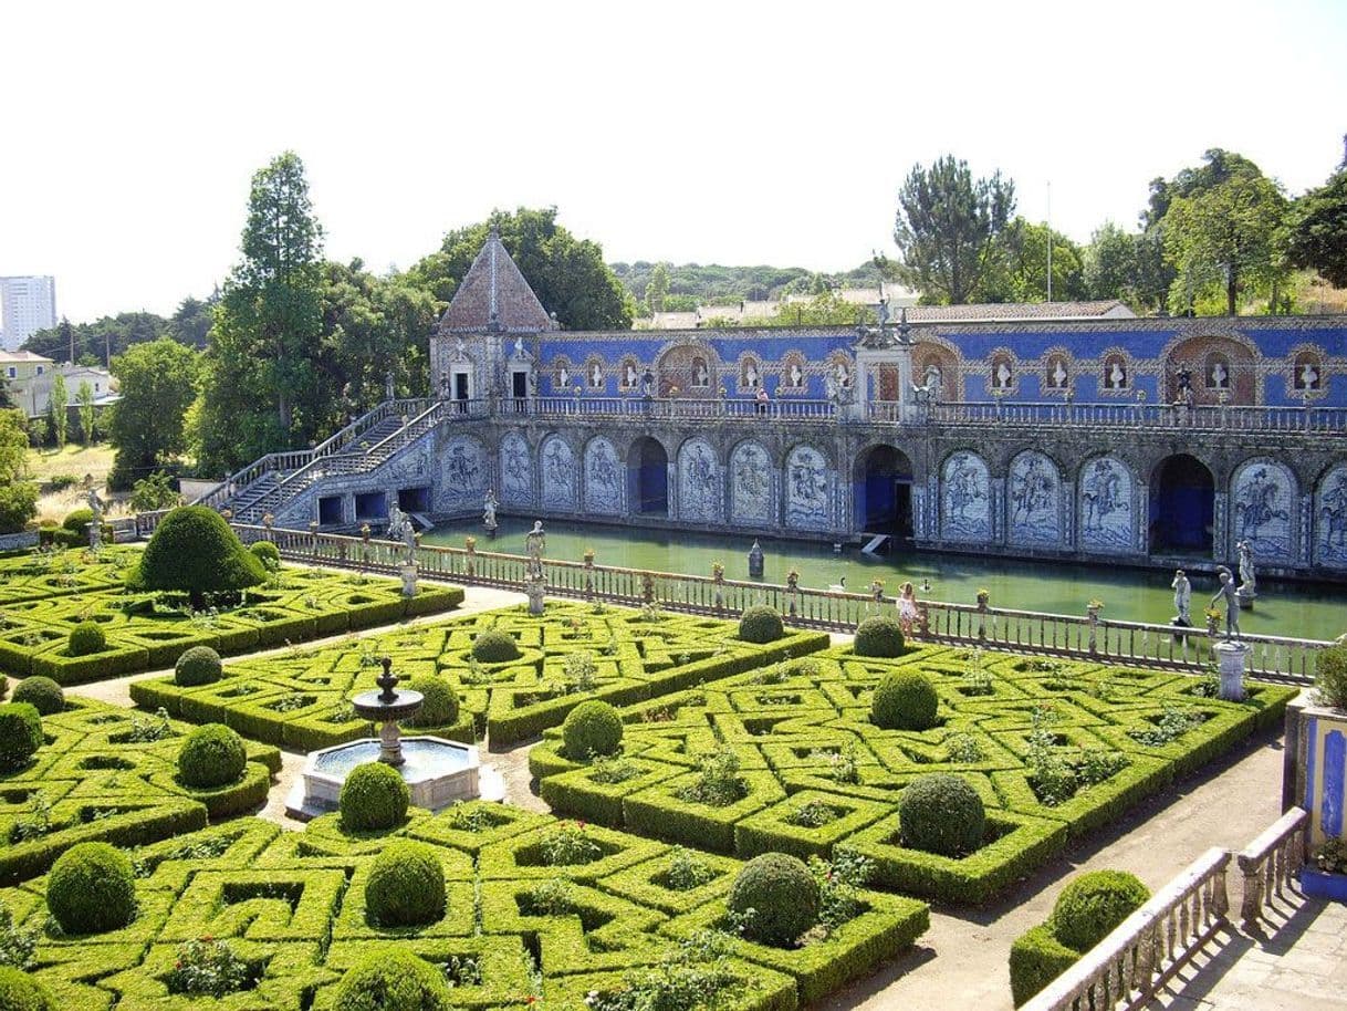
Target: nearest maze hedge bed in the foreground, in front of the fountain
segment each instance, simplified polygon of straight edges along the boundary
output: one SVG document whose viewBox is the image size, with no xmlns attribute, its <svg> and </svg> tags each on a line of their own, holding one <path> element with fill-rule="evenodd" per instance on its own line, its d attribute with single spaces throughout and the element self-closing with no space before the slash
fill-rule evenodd
<svg viewBox="0 0 1347 1011">
<path fill-rule="evenodd" d="M 603 856 L 543 863 L 541 841 L 567 830 L 593 836 Z M 445 903 L 430 922 L 389 926 L 374 919 L 368 894 L 380 851 L 401 838 L 435 853 Z M 201 987 L 220 983 L 245 991 L 249 1008 L 279 1011 L 333 1007 L 348 973 L 392 950 L 432 967 L 453 1007 L 583 1007 L 591 991 L 630 1007 L 678 979 L 717 983 L 714 1007 L 726 1011 L 795 1011 L 872 972 L 927 926 L 921 903 L 857 888 L 845 917 L 789 949 L 746 942 L 715 898 L 740 861 L 694 855 L 711 879 L 694 872 L 700 883 L 680 891 L 687 879 L 672 872 L 688 859 L 625 833 L 473 802 L 414 811 L 377 837 L 346 833 L 337 816 L 302 833 L 240 818 L 143 847 L 132 853 L 136 918 L 90 938 L 48 930 L 40 880 L 0 890 L 0 906 L 34 933 L 32 975 L 59 1006 L 106 1007 L 117 993 L 119 1008 L 136 1011 L 194 1006 L 172 992 L 183 952 L 194 967 L 229 968 Z"/>
</svg>

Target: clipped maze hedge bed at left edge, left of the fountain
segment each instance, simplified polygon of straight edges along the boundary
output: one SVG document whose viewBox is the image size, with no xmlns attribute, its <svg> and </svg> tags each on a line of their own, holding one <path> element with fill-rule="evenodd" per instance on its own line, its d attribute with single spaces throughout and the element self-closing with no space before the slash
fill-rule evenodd
<svg viewBox="0 0 1347 1011">
<path fill-rule="evenodd" d="M 280 771 L 275 748 L 247 744 L 241 775 L 189 786 L 178 755 L 190 727 L 85 698 L 67 696 L 42 731 L 36 755 L 0 778 L 0 882 L 40 875 L 78 842 L 139 845 L 251 810 Z"/>
</svg>

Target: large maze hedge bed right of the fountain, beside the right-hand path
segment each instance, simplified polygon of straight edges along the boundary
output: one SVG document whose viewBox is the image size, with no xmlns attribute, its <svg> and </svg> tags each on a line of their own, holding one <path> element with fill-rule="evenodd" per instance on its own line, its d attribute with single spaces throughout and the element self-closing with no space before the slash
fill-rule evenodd
<svg viewBox="0 0 1347 1011">
<path fill-rule="evenodd" d="M 931 725 L 876 725 L 877 686 L 908 671 L 935 692 Z M 1202 689 L 1181 674 L 990 651 L 835 647 L 629 705 L 612 758 L 577 760 L 548 731 L 529 768 L 558 814 L 741 857 L 851 848 L 881 888 L 981 903 L 1276 723 L 1294 694 L 1250 685 L 1245 702 L 1222 702 Z M 713 759 L 735 767 L 738 795 L 699 789 Z M 975 838 L 951 852 L 932 852 L 900 814 L 907 787 L 932 774 L 956 776 L 985 807 Z"/>
</svg>

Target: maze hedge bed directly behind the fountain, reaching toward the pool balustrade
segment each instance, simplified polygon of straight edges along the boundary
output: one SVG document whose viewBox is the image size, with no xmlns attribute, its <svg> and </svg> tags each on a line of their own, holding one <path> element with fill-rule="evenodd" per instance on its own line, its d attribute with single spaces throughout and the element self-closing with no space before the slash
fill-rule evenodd
<svg viewBox="0 0 1347 1011">
<path fill-rule="evenodd" d="M 474 662 L 473 643 L 486 630 L 508 632 L 520 656 Z M 445 677 L 458 689 L 458 723 L 426 729 L 465 741 L 489 733 L 493 745 L 502 745 L 560 724 L 586 698 L 638 702 L 827 644 L 826 634 L 791 632 L 756 646 L 742 642 L 731 621 L 550 601 L 543 617 L 524 608 L 492 611 L 241 661 L 225 669 L 224 679 L 199 687 L 140 681 L 131 694 L 140 706 L 163 706 L 191 723 L 224 723 L 253 740 L 315 751 L 370 735 L 348 700 L 374 687 L 379 656 L 388 655 L 404 687 Z M 577 659 L 587 666 L 586 656 L 593 667 L 579 675 Z"/>
</svg>

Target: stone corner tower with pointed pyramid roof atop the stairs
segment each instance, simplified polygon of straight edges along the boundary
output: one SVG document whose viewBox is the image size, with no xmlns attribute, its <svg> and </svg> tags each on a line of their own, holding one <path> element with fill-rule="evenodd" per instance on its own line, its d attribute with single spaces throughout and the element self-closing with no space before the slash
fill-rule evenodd
<svg viewBox="0 0 1347 1011">
<path fill-rule="evenodd" d="M 555 329 L 556 319 L 493 226 L 431 333 L 435 392 L 453 400 L 531 395 L 533 352 L 527 345 Z"/>
</svg>

